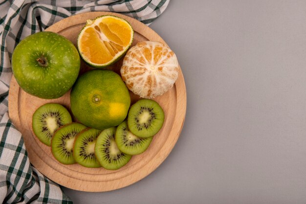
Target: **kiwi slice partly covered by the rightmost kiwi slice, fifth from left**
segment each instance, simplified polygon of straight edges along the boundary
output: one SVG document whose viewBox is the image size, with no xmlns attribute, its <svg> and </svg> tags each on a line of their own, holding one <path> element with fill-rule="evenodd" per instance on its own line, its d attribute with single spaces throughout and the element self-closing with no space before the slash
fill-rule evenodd
<svg viewBox="0 0 306 204">
<path fill-rule="evenodd" d="M 153 136 L 142 138 L 131 133 L 128 122 L 123 121 L 116 130 L 115 141 L 119 150 L 129 155 L 143 153 L 151 144 Z"/>
</svg>

